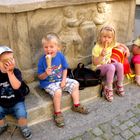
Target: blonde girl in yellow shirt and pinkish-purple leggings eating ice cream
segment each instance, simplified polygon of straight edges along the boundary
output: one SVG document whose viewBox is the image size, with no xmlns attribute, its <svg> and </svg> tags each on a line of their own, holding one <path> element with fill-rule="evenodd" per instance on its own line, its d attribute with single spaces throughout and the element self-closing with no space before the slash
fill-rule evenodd
<svg viewBox="0 0 140 140">
<path fill-rule="evenodd" d="M 112 49 L 119 43 L 116 42 L 116 32 L 111 26 L 103 27 L 98 36 L 96 45 L 92 49 L 93 69 L 101 70 L 101 76 L 106 78 L 104 86 L 104 96 L 111 102 L 113 100 L 113 80 L 116 75 L 116 93 L 124 96 L 124 69 L 123 64 L 118 61 L 111 61 Z M 122 45 L 120 47 L 123 47 Z M 129 50 L 126 48 L 126 56 Z"/>
</svg>

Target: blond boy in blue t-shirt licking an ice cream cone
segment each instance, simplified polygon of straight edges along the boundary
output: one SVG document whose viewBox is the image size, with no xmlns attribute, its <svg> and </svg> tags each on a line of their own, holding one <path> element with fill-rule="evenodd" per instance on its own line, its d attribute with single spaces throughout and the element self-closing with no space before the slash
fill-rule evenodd
<svg viewBox="0 0 140 140">
<path fill-rule="evenodd" d="M 74 79 L 67 78 L 68 63 L 59 51 L 59 45 L 60 41 L 56 34 L 48 34 L 42 39 L 44 55 L 38 62 L 38 78 L 40 79 L 41 88 L 53 97 L 56 125 L 63 127 L 64 118 L 61 113 L 62 90 L 71 94 L 74 103 L 73 111 L 88 114 L 88 110 L 79 103 L 79 83 Z"/>
</svg>

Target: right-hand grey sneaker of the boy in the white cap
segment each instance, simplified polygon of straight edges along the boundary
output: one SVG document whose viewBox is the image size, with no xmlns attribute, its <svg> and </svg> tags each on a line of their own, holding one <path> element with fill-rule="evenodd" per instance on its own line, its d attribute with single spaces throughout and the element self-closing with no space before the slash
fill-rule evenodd
<svg viewBox="0 0 140 140">
<path fill-rule="evenodd" d="M 32 138 L 32 132 L 27 126 L 20 127 L 20 132 L 26 140 Z"/>
</svg>

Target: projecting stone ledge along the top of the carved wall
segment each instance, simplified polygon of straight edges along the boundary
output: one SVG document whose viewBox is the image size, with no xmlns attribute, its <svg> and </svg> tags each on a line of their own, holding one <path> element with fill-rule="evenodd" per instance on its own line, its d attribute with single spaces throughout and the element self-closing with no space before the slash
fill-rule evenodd
<svg viewBox="0 0 140 140">
<path fill-rule="evenodd" d="M 36 9 L 102 2 L 104 0 L 0 0 L 0 13 L 20 13 Z M 114 0 L 106 0 L 114 1 Z"/>
</svg>

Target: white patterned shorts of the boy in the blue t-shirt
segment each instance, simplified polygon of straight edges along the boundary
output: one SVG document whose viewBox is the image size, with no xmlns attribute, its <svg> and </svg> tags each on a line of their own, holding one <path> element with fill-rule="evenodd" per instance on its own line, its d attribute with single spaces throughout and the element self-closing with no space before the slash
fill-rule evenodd
<svg viewBox="0 0 140 140">
<path fill-rule="evenodd" d="M 45 89 L 46 92 L 48 92 L 51 96 L 54 96 L 55 92 L 57 90 L 62 90 L 62 88 L 60 87 L 60 83 L 61 82 L 55 82 L 55 83 L 51 83 L 49 84 Z M 67 78 L 66 79 L 66 85 L 65 87 L 63 88 L 63 91 L 67 91 L 69 92 L 70 94 L 72 93 L 72 90 L 73 90 L 73 87 L 75 85 L 79 85 L 78 81 L 74 80 L 74 79 L 70 79 L 70 78 Z"/>
</svg>

